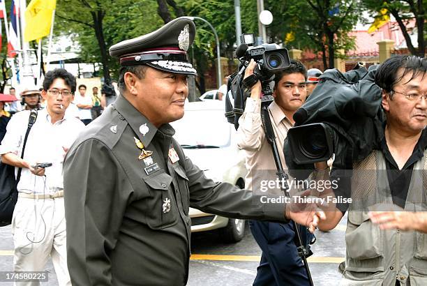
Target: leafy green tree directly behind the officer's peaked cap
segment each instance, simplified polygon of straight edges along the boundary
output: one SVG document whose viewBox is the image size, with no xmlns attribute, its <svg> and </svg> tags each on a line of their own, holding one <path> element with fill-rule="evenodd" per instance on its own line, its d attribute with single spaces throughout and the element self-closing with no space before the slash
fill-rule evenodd
<svg viewBox="0 0 427 286">
<path fill-rule="evenodd" d="M 58 0 L 57 18 L 57 32 L 80 44 L 82 60 L 101 63 L 105 80 L 119 69 L 117 59 L 108 54 L 110 46 L 160 23 L 156 3 L 150 0 Z"/>
</svg>

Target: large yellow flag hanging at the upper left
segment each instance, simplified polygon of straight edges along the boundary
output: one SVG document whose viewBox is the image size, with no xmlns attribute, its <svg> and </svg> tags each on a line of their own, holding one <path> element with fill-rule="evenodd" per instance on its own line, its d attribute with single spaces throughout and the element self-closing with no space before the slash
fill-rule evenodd
<svg viewBox="0 0 427 286">
<path fill-rule="evenodd" d="M 24 40 L 38 40 L 50 33 L 57 0 L 31 0 L 25 10 Z"/>
</svg>

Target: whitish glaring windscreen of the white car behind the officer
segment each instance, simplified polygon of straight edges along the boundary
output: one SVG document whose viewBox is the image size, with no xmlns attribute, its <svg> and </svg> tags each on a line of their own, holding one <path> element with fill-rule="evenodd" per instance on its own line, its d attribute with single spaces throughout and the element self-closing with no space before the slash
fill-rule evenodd
<svg viewBox="0 0 427 286">
<path fill-rule="evenodd" d="M 174 138 L 181 145 L 230 145 L 232 126 L 223 110 L 186 110 L 172 126 L 176 130 Z"/>
</svg>

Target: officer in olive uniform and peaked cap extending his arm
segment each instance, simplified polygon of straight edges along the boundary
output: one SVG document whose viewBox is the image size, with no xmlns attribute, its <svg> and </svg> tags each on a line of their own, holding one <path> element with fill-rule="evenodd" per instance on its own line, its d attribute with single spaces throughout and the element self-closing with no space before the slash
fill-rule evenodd
<svg viewBox="0 0 427 286">
<path fill-rule="evenodd" d="M 120 96 L 64 163 L 68 269 L 73 285 L 185 285 L 189 206 L 232 218 L 316 223 L 324 214 L 269 211 L 250 190 L 216 183 L 184 156 L 168 124 L 183 116 L 195 25 L 173 20 L 110 47 Z"/>
</svg>

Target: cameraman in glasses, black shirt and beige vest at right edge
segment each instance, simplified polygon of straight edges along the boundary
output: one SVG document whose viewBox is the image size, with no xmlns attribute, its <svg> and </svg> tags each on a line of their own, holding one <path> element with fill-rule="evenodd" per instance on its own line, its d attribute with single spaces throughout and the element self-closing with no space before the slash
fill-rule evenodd
<svg viewBox="0 0 427 286">
<path fill-rule="evenodd" d="M 426 72 L 426 59 L 403 55 L 376 70 L 387 116 L 380 149 L 334 190 L 351 192 L 352 204 L 337 204 L 319 225 L 332 229 L 348 211 L 344 285 L 427 285 Z M 327 170 L 325 162 L 315 167 Z"/>
</svg>

